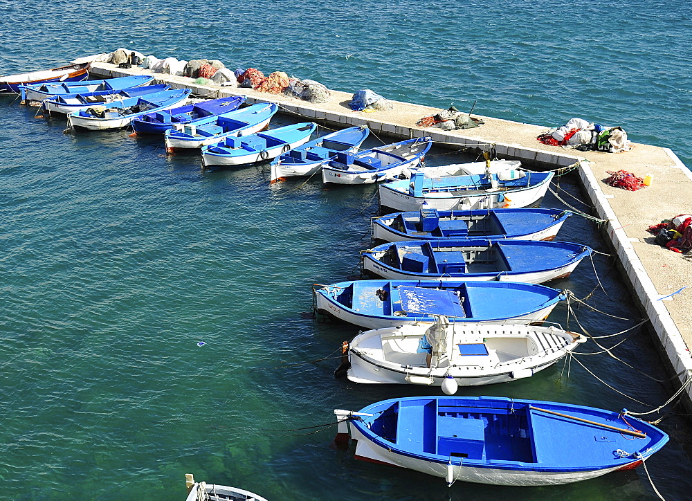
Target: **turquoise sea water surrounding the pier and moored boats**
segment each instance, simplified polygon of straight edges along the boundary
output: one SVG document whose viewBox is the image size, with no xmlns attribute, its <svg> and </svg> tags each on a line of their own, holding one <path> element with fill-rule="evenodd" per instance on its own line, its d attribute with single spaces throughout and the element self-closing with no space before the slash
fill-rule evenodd
<svg viewBox="0 0 692 501">
<path fill-rule="evenodd" d="M 341 90 L 531 123 L 572 116 L 623 125 L 637 142 L 671 147 L 690 116 L 690 8 L 634 2 L 507 6 L 495 2 L 333 1 L 0 6 L 0 73 L 60 64 L 125 46 L 158 57 L 218 58 L 315 78 Z M 67 23 L 64 10 L 83 17 Z M 32 13 L 28 18 L 27 14 Z M 30 23 L 29 23 L 30 21 Z M 27 29 L 30 24 L 31 29 Z M 313 283 L 354 275 L 370 245 L 373 186 L 280 187 L 266 165 L 202 174 L 197 156 L 166 158 L 129 131 L 63 135 L 64 120 L 0 98 L 3 315 L 0 317 L 1 498 L 176 500 L 183 475 L 243 486 L 270 500 L 600 500 L 654 496 L 646 473 L 619 472 L 550 488 L 457 483 L 353 459 L 331 446 L 334 408 L 358 409 L 426 388 L 336 380 L 329 356 L 356 334 L 316 322 Z M 378 144 L 372 138 L 370 145 Z M 461 161 L 439 150 L 428 163 Z M 561 187 L 581 197 L 574 180 Z M 547 197 L 544 206 L 560 206 Z M 572 217 L 561 238 L 608 249 Z M 613 334 L 637 323 L 607 257 L 552 286 L 617 316 L 579 309 L 584 327 Z M 565 321 L 564 307 L 551 320 Z M 570 324 L 574 327 L 574 324 Z M 619 339 L 619 338 L 617 338 Z M 198 347 L 204 341 L 206 345 Z M 616 343 L 608 341 L 608 345 Z M 597 351 L 595 347 L 585 347 Z M 666 379 L 646 331 L 616 349 Z M 507 385 L 459 390 L 648 410 L 672 394 L 607 356 Z M 669 500 L 689 498 L 689 417 L 662 421 L 671 442 L 649 472 Z M 281 431 L 284 430 L 284 431 Z M 565 444 L 569 447 L 570 444 Z"/>
</svg>

